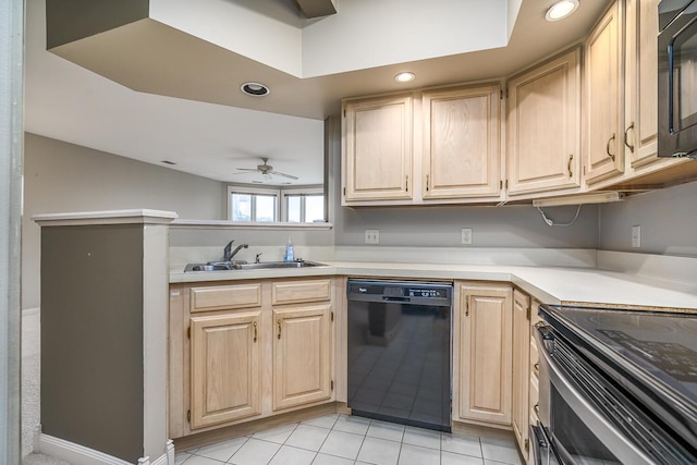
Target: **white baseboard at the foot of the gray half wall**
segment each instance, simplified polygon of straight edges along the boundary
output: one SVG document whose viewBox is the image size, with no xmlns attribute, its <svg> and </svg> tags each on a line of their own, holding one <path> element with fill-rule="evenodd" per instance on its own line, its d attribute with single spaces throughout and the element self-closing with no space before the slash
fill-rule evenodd
<svg viewBox="0 0 697 465">
<path fill-rule="evenodd" d="M 133 465 L 126 461 L 95 451 L 64 439 L 39 433 L 38 452 L 69 462 L 73 465 Z M 139 458 L 138 465 L 174 465 L 174 443 L 169 440 L 164 445 L 166 452 L 150 462 L 149 457 Z"/>
</svg>

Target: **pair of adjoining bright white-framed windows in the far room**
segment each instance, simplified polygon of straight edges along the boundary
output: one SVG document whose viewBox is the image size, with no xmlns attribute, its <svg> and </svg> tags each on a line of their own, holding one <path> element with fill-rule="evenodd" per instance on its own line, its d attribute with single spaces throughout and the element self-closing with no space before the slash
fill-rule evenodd
<svg viewBox="0 0 697 465">
<path fill-rule="evenodd" d="M 281 203 L 279 199 L 283 199 Z M 292 189 L 228 186 L 229 219 L 240 222 L 325 222 L 321 187 Z"/>
</svg>

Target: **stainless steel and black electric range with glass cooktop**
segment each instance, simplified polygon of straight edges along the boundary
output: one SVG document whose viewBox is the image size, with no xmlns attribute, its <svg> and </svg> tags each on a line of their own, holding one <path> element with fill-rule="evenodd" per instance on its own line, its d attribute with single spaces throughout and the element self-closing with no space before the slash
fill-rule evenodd
<svg viewBox="0 0 697 465">
<path fill-rule="evenodd" d="M 697 316 L 539 314 L 536 463 L 697 464 Z"/>
</svg>

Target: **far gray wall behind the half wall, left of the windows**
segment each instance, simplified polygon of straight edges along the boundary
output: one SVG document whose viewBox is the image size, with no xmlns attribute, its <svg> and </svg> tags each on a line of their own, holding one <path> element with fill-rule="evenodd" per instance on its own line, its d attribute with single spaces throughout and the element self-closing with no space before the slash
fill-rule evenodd
<svg viewBox="0 0 697 465">
<path fill-rule="evenodd" d="M 28 133 L 24 163 L 22 308 L 40 301 L 40 228 L 33 215 L 149 208 L 180 218 L 227 218 L 225 187 L 218 181 Z"/>
</svg>

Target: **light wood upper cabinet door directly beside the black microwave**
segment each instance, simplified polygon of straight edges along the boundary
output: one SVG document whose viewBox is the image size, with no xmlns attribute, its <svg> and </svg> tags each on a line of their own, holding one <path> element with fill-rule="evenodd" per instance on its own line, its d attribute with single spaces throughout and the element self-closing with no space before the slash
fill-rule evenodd
<svg viewBox="0 0 697 465">
<path fill-rule="evenodd" d="M 658 0 L 627 0 L 625 151 L 633 168 L 658 160 Z"/>
</svg>

